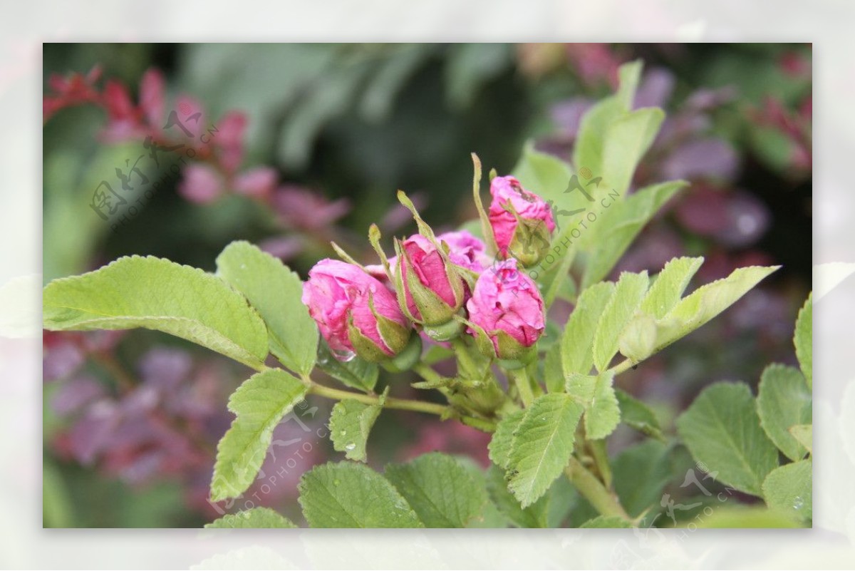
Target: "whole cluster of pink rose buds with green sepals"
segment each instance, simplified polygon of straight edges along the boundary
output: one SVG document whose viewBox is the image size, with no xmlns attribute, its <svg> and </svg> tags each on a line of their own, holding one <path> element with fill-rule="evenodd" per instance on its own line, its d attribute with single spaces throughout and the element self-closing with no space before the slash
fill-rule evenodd
<svg viewBox="0 0 855 571">
<path fill-rule="evenodd" d="M 494 177 L 490 191 L 495 257 L 469 232 L 434 235 L 403 196 L 420 232 L 395 239 L 397 256 L 386 259 L 372 238 L 382 265 L 326 259 L 311 269 L 303 303 L 334 356 L 403 370 L 420 357 L 417 330 L 438 342 L 465 331 L 486 356 L 528 360 L 544 331 L 544 302 L 521 268 L 544 255 L 555 222 L 549 205 L 514 177 Z"/>
</svg>

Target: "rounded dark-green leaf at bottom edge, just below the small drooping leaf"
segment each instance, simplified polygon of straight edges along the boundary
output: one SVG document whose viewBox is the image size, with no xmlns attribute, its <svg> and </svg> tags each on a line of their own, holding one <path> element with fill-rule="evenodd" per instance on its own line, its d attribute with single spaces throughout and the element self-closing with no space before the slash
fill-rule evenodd
<svg viewBox="0 0 855 571">
<path fill-rule="evenodd" d="M 298 490 L 310 527 L 424 527 L 394 486 L 364 464 L 315 466 Z"/>
</svg>

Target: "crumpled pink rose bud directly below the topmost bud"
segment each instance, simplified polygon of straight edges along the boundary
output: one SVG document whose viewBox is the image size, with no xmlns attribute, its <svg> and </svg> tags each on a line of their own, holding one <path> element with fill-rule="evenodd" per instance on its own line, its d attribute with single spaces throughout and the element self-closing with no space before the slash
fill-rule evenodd
<svg viewBox="0 0 855 571">
<path fill-rule="evenodd" d="M 481 274 L 466 309 L 469 333 L 487 356 L 518 359 L 544 330 L 543 297 L 513 258 Z"/>
</svg>

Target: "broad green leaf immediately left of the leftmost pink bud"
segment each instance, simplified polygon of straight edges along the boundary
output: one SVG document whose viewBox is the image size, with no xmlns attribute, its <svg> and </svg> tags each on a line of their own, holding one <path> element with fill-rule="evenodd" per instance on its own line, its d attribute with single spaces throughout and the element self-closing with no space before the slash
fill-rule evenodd
<svg viewBox="0 0 855 571">
<path fill-rule="evenodd" d="M 315 367 L 318 328 L 301 301 L 303 282 L 278 258 L 233 242 L 216 259 L 217 275 L 250 300 L 268 327 L 270 352 L 297 374 Z"/>
</svg>

